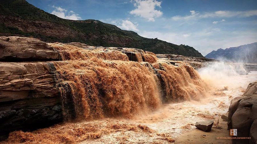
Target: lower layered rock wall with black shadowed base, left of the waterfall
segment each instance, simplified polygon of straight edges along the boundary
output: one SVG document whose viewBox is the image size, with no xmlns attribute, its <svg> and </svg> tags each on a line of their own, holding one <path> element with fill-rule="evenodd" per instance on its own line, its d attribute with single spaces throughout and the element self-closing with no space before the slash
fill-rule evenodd
<svg viewBox="0 0 257 144">
<path fill-rule="evenodd" d="M 0 133 L 62 120 L 51 62 L 0 62 Z"/>
</svg>

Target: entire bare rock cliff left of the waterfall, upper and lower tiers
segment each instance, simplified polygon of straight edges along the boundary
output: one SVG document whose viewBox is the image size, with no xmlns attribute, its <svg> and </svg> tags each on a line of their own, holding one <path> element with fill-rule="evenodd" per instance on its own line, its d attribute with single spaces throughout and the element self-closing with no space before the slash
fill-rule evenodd
<svg viewBox="0 0 257 144">
<path fill-rule="evenodd" d="M 33 38 L 0 37 L 0 45 L 0 133 L 61 122 L 56 69 L 46 62 L 59 53 Z"/>
</svg>

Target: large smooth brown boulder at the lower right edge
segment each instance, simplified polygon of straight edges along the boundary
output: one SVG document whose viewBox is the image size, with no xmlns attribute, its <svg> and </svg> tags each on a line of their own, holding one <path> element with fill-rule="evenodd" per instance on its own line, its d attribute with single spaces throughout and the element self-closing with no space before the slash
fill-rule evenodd
<svg viewBox="0 0 257 144">
<path fill-rule="evenodd" d="M 250 83 L 242 96 L 232 100 L 228 113 L 228 129 L 237 129 L 238 137 L 233 143 L 256 143 L 257 133 L 257 82 Z"/>
</svg>

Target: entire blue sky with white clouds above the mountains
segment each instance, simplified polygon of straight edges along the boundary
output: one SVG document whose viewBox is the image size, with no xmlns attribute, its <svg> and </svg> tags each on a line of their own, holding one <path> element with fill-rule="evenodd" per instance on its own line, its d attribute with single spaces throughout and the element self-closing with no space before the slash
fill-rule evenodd
<svg viewBox="0 0 257 144">
<path fill-rule="evenodd" d="M 27 0 L 61 18 L 97 19 L 147 38 L 212 50 L 257 42 L 257 1 Z"/>
</svg>

